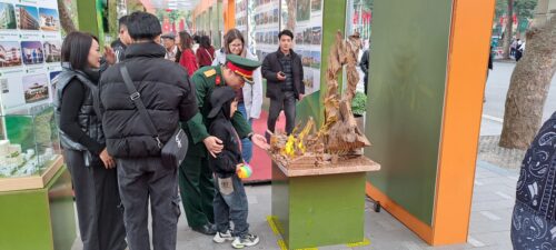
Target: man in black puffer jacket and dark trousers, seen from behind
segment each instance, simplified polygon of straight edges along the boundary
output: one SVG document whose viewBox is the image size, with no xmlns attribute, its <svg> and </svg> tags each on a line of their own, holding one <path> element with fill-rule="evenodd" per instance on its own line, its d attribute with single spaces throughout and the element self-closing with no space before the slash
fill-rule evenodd
<svg viewBox="0 0 556 250">
<path fill-rule="evenodd" d="M 130 14 L 128 31 L 133 43 L 121 63 L 128 68 L 158 136 L 166 143 L 179 122 L 188 121 L 199 110 L 195 88 L 186 70 L 165 60 L 165 48 L 155 42 L 161 33 L 157 17 L 147 12 Z M 129 248 L 150 249 L 150 203 L 155 249 L 175 250 L 180 214 L 178 170 L 162 164 L 155 134 L 130 99 L 118 64 L 102 74 L 99 89 L 107 149 L 117 162 Z"/>
</svg>

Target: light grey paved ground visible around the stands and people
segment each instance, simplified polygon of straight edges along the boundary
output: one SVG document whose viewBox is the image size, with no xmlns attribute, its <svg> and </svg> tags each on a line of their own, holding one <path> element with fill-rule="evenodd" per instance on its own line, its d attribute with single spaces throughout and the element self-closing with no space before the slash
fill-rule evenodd
<svg viewBox="0 0 556 250">
<path fill-rule="evenodd" d="M 485 114 L 480 127 L 480 136 L 499 136 L 502 132 L 502 117 L 504 113 L 504 102 L 506 90 L 509 86 L 513 63 L 495 62 L 495 70 L 488 78 L 486 84 L 486 102 L 484 104 Z M 552 86 L 556 84 L 556 77 Z M 360 84 L 363 86 L 363 84 Z M 550 88 L 554 89 L 554 88 Z M 556 91 L 550 91 L 545 107 L 545 119 L 555 109 Z M 488 119 L 485 119 L 488 118 Z M 321 250 L 337 249 L 376 249 L 376 250 L 506 250 L 512 249 L 509 241 L 509 227 L 512 208 L 515 199 L 515 184 L 518 171 L 507 170 L 485 161 L 477 162 L 475 189 L 473 197 L 473 208 L 470 217 L 470 228 L 468 243 L 445 247 L 429 247 L 424 243 L 415 233 L 404 224 L 394 219 L 388 212 L 375 213 L 368 203 L 366 212 L 366 237 L 370 239 L 369 246 L 348 248 L 346 246 L 321 247 Z M 272 234 L 266 217 L 270 216 L 270 186 L 246 188 L 250 202 L 249 223 L 251 230 L 259 234 L 261 242 L 251 249 L 280 249 L 278 239 Z M 231 249 L 229 244 L 215 244 L 209 237 L 192 232 L 180 218 L 178 224 L 178 250 L 212 250 Z M 72 250 L 81 250 L 79 239 L 76 240 Z"/>
</svg>

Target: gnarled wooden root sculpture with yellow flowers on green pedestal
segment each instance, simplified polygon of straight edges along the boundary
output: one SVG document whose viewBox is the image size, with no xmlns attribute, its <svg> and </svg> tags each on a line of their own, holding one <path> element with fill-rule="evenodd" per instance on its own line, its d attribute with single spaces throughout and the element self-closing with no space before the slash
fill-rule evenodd
<svg viewBox="0 0 556 250">
<path fill-rule="evenodd" d="M 370 146 L 370 142 L 357 127 L 351 112 L 351 100 L 359 81 L 356 67 L 360 44 L 358 38 L 350 37 L 348 40 L 342 40 L 341 32 L 336 33 L 326 73 L 328 88 L 325 97 L 324 124 L 316 132 L 315 121 L 309 118 L 300 132 L 298 126 L 292 134 L 280 132 L 272 134 L 270 154 L 274 160 L 287 168 L 337 166 L 345 159 L 351 159 L 353 163 L 365 161 L 357 152 Z M 341 94 L 338 90 L 338 77 L 341 76 L 344 66 L 346 66 L 347 89 Z M 346 162 L 342 161 L 344 164 Z"/>
</svg>

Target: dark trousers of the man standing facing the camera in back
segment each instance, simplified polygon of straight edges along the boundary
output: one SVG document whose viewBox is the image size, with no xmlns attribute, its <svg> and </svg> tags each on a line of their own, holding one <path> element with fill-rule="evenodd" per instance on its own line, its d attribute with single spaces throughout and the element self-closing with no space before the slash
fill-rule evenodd
<svg viewBox="0 0 556 250">
<path fill-rule="evenodd" d="M 270 132 L 275 132 L 276 120 L 281 110 L 286 113 L 286 132 L 290 134 L 296 126 L 296 94 L 292 91 L 284 92 L 282 99 L 270 99 L 267 121 Z"/>
</svg>

